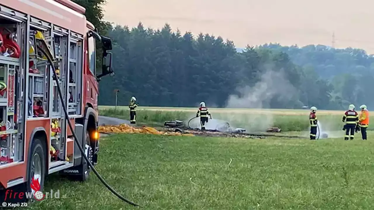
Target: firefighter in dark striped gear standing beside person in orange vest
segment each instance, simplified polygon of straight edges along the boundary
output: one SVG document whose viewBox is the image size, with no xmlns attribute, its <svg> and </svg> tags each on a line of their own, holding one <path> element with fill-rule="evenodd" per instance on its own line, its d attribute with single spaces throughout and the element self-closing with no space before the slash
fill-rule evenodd
<svg viewBox="0 0 374 210">
<path fill-rule="evenodd" d="M 345 123 L 343 130 L 346 131 L 344 140 L 353 140 L 355 136 L 355 130 L 358 132 L 358 113 L 355 111 L 355 105 L 349 105 L 349 110 L 344 113 L 343 123 Z"/>
</svg>

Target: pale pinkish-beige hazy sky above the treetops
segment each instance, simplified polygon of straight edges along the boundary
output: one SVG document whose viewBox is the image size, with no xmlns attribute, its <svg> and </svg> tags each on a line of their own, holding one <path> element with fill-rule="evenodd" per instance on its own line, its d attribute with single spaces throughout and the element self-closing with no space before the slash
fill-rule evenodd
<svg viewBox="0 0 374 210">
<path fill-rule="evenodd" d="M 108 0 L 104 19 L 220 35 L 237 47 L 325 44 L 374 53 L 373 0 Z"/>
</svg>

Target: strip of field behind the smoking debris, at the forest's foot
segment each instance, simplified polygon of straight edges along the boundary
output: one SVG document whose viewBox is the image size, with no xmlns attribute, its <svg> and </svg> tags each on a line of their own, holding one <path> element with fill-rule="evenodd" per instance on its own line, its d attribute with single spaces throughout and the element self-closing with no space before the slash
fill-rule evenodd
<svg viewBox="0 0 374 210">
<path fill-rule="evenodd" d="M 137 123 L 161 125 L 168 120 L 184 120 L 196 116 L 196 109 L 164 109 L 140 107 L 137 111 Z M 181 110 L 181 111 L 175 111 Z M 231 110 L 231 111 L 230 111 Z M 309 129 L 309 110 L 293 109 L 209 109 L 214 119 L 228 121 L 233 127 L 242 127 L 248 131 L 264 131 L 268 127 L 279 127 L 283 131 L 306 131 Z M 341 118 L 344 111 L 318 111 L 317 116 L 323 130 L 341 130 Z M 100 107 L 100 115 L 129 120 L 129 110 L 125 107 L 117 109 Z M 199 126 L 198 120 L 191 121 Z M 369 130 L 371 127 L 369 127 Z"/>
</svg>

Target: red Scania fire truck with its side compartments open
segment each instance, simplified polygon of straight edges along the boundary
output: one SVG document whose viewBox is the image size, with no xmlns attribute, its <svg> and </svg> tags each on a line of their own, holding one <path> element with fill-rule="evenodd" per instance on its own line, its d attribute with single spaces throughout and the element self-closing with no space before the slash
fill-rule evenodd
<svg viewBox="0 0 374 210">
<path fill-rule="evenodd" d="M 0 2 L 3 196 L 8 196 L 4 191 L 16 187 L 33 192 L 35 180 L 42 191 L 45 176 L 55 172 L 86 180 L 89 167 L 77 142 L 91 163 L 97 164 L 98 81 L 114 74 L 108 52 L 112 46 L 110 38 L 99 35 L 84 14 L 85 8 L 70 0 Z M 103 50 L 100 70 L 96 69 L 95 43 L 101 43 Z M 54 68 L 47 56 L 53 59 Z"/>
</svg>

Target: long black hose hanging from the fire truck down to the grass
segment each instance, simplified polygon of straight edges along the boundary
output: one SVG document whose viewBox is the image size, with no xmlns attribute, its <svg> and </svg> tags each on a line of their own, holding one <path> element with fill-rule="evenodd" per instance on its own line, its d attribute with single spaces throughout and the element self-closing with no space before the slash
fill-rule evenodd
<svg viewBox="0 0 374 210">
<path fill-rule="evenodd" d="M 57 77 L 57 74 L 56 74 L 56 68 L 55 66 L 53 65 L 53 62 L 52 62 L 52 59 L 47 55 L 47 53 L 45 52 L 45 50 L 42 49 L 42 47 L 40 47 L 39 45 L 37 45 L 37 48 L 38 50 L 40 50 L 46 57 L 47 57 L 47 60 L 49 62 L 49 64 L 51 65 L 52 67 L 52 70 L 53 70 L 53 79 L 56 80 L 56 84 L 57 84 L 57 90 L 58 90 L 58 95 L 60 96 L 60 100 L 61 102 L 64 101 L 63 97 L 62 97 L 62 92 L 61 92 L 61 87 L 60 87 L 60 84 L 58 82 L 58 77 Z M 62 109 L 64 109 L 64 113 L 65 113 L 65 117 L 68 119 L 69 118 L 69 114 L 66 110 L 66 105 L 64 103 L 62 103 Z M 80 152 L 82 153 L 83 157 L 85 158 L 86 162 L 88 163 L 89 167 L 92 169 L 93 173 L 95 173 L 95 175 L 99 178 L 99 180 L 114 194 L 116 195 L 119 199 L 125 201 L 126 203 L 128 204 L 131 204 L 132 206 L 139 206 L 138 204 L 126 199 L 125 197 L 123 197 L 122 195 L 120 195 L 118 192 L 116 192 L 110 185 L 108 185 L 107 182 L 105 182 L 105 180 L 99 175 L 99 173 L 96 171 L 96 169 L 93 167 L 91 161 L 88 159 L 88 157 L 86 156 L 85 154 L 85 151 L 83 150 L 82 146 L 80 145 L 80 142 L 78 142 L 78 137 L 77 137 L 77 134 L 74 132 L 74 129 L 73 129 L 73 126 L 71 125 L 71 122 L 70 120 L 67 120 L 68 124 L 69 124 L 69 127 L 70 127 L 70 130 L 71 132 L 73 133 L 73 136 L 74 136 L 74 141 L 77 143 L 78 145 L 78 148 L 80 150 Z"/>
</svg>

